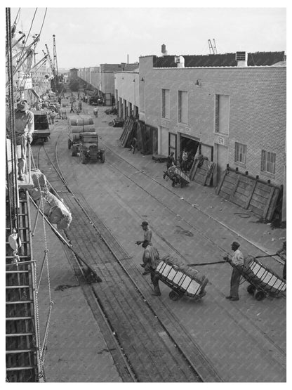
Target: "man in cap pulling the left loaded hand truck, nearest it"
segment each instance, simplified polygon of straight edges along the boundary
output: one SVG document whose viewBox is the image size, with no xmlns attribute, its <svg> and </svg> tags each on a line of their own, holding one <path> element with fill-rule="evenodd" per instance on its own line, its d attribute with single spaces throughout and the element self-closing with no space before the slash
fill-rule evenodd
<svg viewBox="0 0 292 390">
<path fill-rule="evenodd" d="M 144 253 L 143 264 L 141 264 L 141 266 L 145 269 L 146 273 L 151 273 L 151 282 L 154 286 L 152 295 L 159 296 L 161 295 L 159 289 L 159 276 L 155 272 L 159 264 L 159 252 L 153 245 L 150 245 L 150 242 L 147 240 L 143 241 L 142 247 L 144 248 Z M 143 275 L 146 273 L 143 273 Z"/>
</svg>

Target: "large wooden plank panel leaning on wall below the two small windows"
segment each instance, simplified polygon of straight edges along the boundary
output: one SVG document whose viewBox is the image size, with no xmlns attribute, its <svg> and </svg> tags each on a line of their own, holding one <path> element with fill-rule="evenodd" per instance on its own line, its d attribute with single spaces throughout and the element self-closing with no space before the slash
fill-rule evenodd
<svg viewBox="0 0 292 390">
<path fill-rule="evenodd" d="M 227 168 L 216 194 L 248 209 L 266 221 L 271 221 L 281 189 L 239 171 Z"/>
</svg>

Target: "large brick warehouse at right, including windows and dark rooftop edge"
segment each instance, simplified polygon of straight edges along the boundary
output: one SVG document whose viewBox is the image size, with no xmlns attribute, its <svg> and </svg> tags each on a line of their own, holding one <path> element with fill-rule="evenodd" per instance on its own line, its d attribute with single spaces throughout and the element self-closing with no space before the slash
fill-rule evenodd
<svg viewBox="0 0 292 390">
<path fill-rule="evenodd" d="M 201 153 L 217 164 L 215 185 L 227 164 L 283 185 L 286 63 L 279 54 L 264 66 L 245 58 L 232 66 L 185 67 L 182 57 L 140 57 L 140 119 L 157 127 L 158 152 L 180 155 L 201 143 Z"/>
</svg>

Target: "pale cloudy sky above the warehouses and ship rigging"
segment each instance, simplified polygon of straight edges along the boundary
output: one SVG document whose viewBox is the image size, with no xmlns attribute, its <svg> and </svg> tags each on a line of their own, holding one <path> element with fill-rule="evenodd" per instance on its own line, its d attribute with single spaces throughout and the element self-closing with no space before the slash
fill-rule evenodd
<svg viewBox="0 0 292 390">
<path fill-rule="evenodd" d="M 14 22 L 19 2 L 10 3 Z M 20 8 L 17 30 L 28 34 L 31 29 L 30 36 L 41 31 L 36 60 L 44 56 L 45 44 L 53 58 L 55 34 L 59 69 L 127 60 L 135 63 L 140 56 L 161 56 L 161 44 L 170 55 L 208 54 L 208 39 L 212 43 L 215 39 L 218 53 L 286 51 L 286 2 L 281 0 L 277 1 L 279 8 L 274 6 L 276 2 L 269 6 L 269 1 L 245 1 L 249 8 L 234 8 L 228 1 L 220 1 L 222 8 L 208 6 L 212 1 L 184 0 L 170 1 L 167 8 L 159 0 L 143 2 L 147 8 L 138 6 L 138 1 L 123 1 L 123 8 L 119 8 L 121 1 L 110 1 L 111 8 L 100 8 L 97 1 L 86 1 L 86 8 L 50 1 L 46 9 L 44 3 L 39 1 L 36 11 L 35 5 L 26 2 L 27 7 Z"/>
</svg>

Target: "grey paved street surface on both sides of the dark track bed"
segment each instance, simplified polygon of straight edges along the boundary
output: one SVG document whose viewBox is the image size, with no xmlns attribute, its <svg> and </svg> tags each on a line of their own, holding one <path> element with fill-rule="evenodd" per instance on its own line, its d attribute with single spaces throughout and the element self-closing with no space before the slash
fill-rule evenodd
<svg viewBox="0 0 292 390">
<path fill-rule="evenodd" d="M 71 157 L 67 150 L 66 125 L 62 120 L 55 124 L 56 127 L 64 126 L 58 155 L 60 167 L 70 188 L 87 202 L 88 209 L 102 219 L 131 257 L 124 261 L 125 267 L 136 266 L 142 272 L 142 248 L 137 247 L 135 241 L 142 239 L 140 223 L 143 220 L 150 223 L 152 242 L 159 249 L 159 253 L 180 257 L 187 264 L 222 260 L 226 253 L 231 254 L 230 244 L 233 240 L 241 244 L 244 254 L 253 256 L 274 254 L 281 247 L 286 230 L 272 230 L 269 225 L 258 223 L 256 216 L 246 214 L 246 210 L 215 195 L 214 188 L 202 187 L 194 182 L 186 188 L 172 188 L 171 182 L 162 178 L 165 164 L 155 163 L 151 155 L 142 156 L 140 152 L 133 155 L 126 148 L 121 148 L 119 136 L 122 129 L 108 126 L 112 117 L 105 115 L 104 110 L 105 108 L 99 108 L 95 124 L 101 137 L 100 143 L 106 148 L 105 164 L 96 162 L 84 165 L 79 161 L 79 157 Z M 92 114 L 93 108 L 86 105 L 85 111 Z M 61 245 L 53 245 L 51 259 L 54 270 L 53 285 L 76 284 Z M 58 268 L 55 268 L 55 261 L 58 261 Z M 282 266 L 276 259 L 264 258 L 263 263 L 281 275 Z M 59 264 L 62 264 L 62 276 L 59 273 Z M 240 300 L 227 301 L 225 296 L 229 294 L 232 271 L 229 264 L 196 268 L 209 280 L 204 299 L 198 302 L 185 298 L 171 301 L 168 298 L 169 287 L 160 283 L 162 295 L 152 297 L 153 306 L 157 299 L 163 301 L 166 310 L 173 313 L 180 325 L 189 332 L 224 382 L 284 382 L 286 299 L 267 297 L 263 301 L 256 301 L 246 292 L 247 283 L 244 283 L 239 290 Z M 151 289 L 150 277 L 147 275 L 145 278 Z M 88 326 L 86 332 L 78 332 L 78 329 L 81 330 L 84 326 L 81 321 L 76 326 L 77 334 L 74 334 L 74 339 L 83 339 L 84 333 L 88 332 L 98 334 L 98 327 L 86 306 L 86 301 L 82 299 L 79 287 L 54 292 L 53 300 L 58 299 L 62 310 L 60 313 L 58 311 L 53 322 L 51 337 L 54 342 L 51 346 L 49 343 L 47 353 L 47 373 L 51 374 L 52 381 L 60 380 L 53 375 L 52 368 L 55 354 L 58 354 L 57 346 L 60 344 L 58 337 L 63 333 L 55 333 L 55 330 L 69 325 L 61 323 L 57 318 L 59 314 L 65 314 L 68 307 L 72 307 L 72 301 L 75 301 L 75 295 L 72 294 L 77 294 L 77 312 L 81 307 L 84 309 L 82 318 L 77 318 L 86 320 Z M 69 312 L 74 313 L 72 309 Z M 74 317 L 73 321 L 75 319 Z M 99 344 L 96 349 L 102 350 L 102 337 L 94 339 Z M 66 346 L 64 348 L 66 351 Z M 88 356 L 86 348 L 91 351 Z M 94 356 L 93 351 L 96 349 L 92 349 L 93 346 L 86 348 L 86 359 L 90 358 L 91 353 Z M 110 356 L 107 356 L 107 359 L 112 375 L 114 367 L 111 366 Z M 105 379 L 100 379 L 100 373 L 100 376 L 91 381 L 109 381 L 107 370 L 104 374 Z M 72 375 L 65 380 L 73 382 Z M 118 380 L 116 374 L 112 375 L 110 382 Z"/>
</svg>

